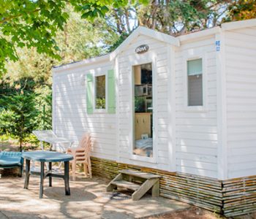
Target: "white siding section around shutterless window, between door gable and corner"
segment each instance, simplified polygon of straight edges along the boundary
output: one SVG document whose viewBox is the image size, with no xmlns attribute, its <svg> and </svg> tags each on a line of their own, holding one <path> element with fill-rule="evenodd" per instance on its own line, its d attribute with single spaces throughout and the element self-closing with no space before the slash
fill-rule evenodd
<svg viewBox="0 0 256 219">
<path fill-rule="evenodd" d="M 177 172 L 217 177 L 217 72 L 214 36 L 181 42 L 176 51 L 176 165 Z M 187 107 L 186 57 L 203 55 L 206 107 Z M 194 110 L 192 110 L 194 108 Z"/>
</svg>

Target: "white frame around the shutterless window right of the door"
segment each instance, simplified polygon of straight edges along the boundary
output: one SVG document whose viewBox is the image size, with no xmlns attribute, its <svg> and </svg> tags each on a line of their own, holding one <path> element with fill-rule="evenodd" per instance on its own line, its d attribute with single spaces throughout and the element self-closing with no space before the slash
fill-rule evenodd
<svg viewBox="0 0 256 219">
<path fill-rule="evenodd" d="M 188 88 L 188 74 L 187 63 L 195 59 L 202 58 L 202 82 L 203 82 L 203 106 L 189 106 L 189 88 Z M 207 72 L 206 72 L 206 53 L 186 53 L 184 55 L 184 110 L 189 112 L 203 112 L 207 111 Z"/>
</svg>

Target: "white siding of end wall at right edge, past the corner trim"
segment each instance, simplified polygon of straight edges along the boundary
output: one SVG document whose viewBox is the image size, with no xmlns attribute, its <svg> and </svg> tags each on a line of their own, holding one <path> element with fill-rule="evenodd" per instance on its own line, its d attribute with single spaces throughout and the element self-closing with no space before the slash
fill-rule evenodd
<svg viewBox="0 0 256 219">
<path fill-rule="evenodd" d="M 225 32 L 227 176 L 256 174 L 256 27 Z"/>
</svg>

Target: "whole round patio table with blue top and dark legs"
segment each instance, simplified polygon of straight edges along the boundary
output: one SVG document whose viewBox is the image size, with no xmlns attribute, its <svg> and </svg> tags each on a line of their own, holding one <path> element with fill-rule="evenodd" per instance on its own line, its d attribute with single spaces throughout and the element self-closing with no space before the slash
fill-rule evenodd
<svg viewBox="0 0 256 219">
<path fill-rule="evenodd" d="M 69 161 L 73 159 L 72 155 L 59 153 L 54 151 L 37 150 L 33 152 L 25 152 L 22 157 L 26 159 L 26 177 L 24 188 L 29 188 L 30 174 L 40 175 L 40 193 L 39 198 L 42 199 L 44 180 L 49 177 L 49 186 L 52 186 L 52 177 L 59 177 L 64 179 L 66 196 L 70 195 L 69 188 Z M 40 172 L 30 171 L 30 161 L 39 161 L 41 163 Z M 49 170 L 45 172 L 45 162 L 49 163 Z M 64 174 L 56 174 L 52 172 L 52 162 L 64 162 Z"/>
</svg>

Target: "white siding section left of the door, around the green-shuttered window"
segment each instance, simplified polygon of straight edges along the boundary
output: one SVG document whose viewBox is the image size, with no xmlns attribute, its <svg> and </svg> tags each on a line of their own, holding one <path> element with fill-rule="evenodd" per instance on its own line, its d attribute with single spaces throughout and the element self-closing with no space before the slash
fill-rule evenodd
<svg viewBox="0 0 256 219">
<path fill-rule="evenodd" d="M 87 73 L 108 72 L 110 63 L 64 69 L 53 74 L 53 130 L 61 137 L 75 140 L 89 131 L 94 141 L 92 155 L 116 160 L 116 115 L 86 113 Z"/>
</svg>

